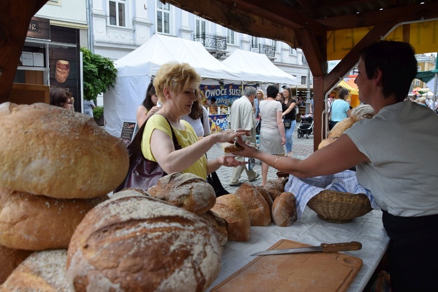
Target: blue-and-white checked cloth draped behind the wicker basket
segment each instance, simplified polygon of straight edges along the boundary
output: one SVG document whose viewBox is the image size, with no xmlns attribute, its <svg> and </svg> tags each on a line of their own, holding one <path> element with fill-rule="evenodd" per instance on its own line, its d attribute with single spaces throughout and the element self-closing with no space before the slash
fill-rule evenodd
<svg viewBox="0 0 438 292">
<path fill-rule="evenodd" d="M 290 174 L 289 180 L 284 187 L 285 192 L 291 192 L 295 195 L 298 220 L 300 219 L 307 202 L 323 190 L 365 194 L 370 199 L 371 208 L 378 208 L 370 191 L 359 185 L 356 178 L 356 172 L 351 170 L 332 175 L 309 178 L 299 178 Z"/>
</svg>

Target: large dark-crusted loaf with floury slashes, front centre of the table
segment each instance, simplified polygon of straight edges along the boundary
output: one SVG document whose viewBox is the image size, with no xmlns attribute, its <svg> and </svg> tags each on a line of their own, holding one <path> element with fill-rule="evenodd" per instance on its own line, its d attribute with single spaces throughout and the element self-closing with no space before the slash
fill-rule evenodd
<svg viewBox="0 0 438 292">
<path fill-rule="evenodd" d="M 68 247 L 76 291 L 204 291 L 221 268 L 222 247 L 203 218 L 140 195 L 89 211 Z"/>
</svg>

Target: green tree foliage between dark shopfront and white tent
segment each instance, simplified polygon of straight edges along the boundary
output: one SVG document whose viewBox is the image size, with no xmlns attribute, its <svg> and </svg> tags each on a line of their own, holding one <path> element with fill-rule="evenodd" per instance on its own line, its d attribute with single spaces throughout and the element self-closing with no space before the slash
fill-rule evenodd
<svg viewBox="0 0 438 292">
<path fill-rule="evenodd" d="M 81 48 L 84 70 L 84 99 L 96 100 L 100 93 L 109 87 L 114 88 L 117 69 L 111 59 L 94 54 L 87 48 Z"/>
</svg>

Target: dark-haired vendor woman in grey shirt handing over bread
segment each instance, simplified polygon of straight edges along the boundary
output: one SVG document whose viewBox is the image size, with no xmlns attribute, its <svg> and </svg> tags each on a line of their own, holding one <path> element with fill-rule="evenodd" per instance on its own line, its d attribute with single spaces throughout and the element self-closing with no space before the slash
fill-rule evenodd
<svg viewBox="0 0 438 292">
<path fill-rule="evenodd" d="M 438 128 L 424 126 L 437 125 L 438 116 L 425 106 L 403 102 L 416 74 L 411 45 L 373 43 L 360 53 L 355 80 L 360 101 L 374 109 L 372 119 L 356 122 L 304 160 L 263 153 L 243 141 L 245 150 L 238 152 L 298 177 L 356 166 L 359 184 L 371 191 L 383 212 L 396 292 L 438 291 Z M 421 151 L 412 151 L 418 147 Z"/>
</svg>

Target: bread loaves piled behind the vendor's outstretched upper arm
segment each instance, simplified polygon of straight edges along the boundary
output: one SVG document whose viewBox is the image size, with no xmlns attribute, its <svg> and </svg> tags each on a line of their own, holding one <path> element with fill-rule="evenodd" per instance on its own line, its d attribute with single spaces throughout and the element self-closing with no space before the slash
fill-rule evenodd
<svg viewBox="0 0 438 292">
<path fill-rule="evenodd" d="M 343 119 L 342 121 L 336 123 L 333 129 L 328 132 L 327 138 L 323 139 L 318 145 L 318 149 L 325 147 L 328 144 L 333 143 L 337 138 L 339 138 L 345 130 L 350 129 L 351 126 L 362 119 L 371 119 L 374 116 L 374 109 L 371 105 L 361 104 L 354 107 L 351 110 L 350 117 Z"/>
</svg>

